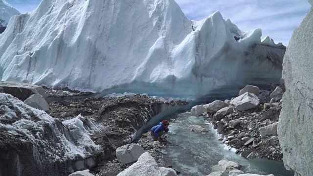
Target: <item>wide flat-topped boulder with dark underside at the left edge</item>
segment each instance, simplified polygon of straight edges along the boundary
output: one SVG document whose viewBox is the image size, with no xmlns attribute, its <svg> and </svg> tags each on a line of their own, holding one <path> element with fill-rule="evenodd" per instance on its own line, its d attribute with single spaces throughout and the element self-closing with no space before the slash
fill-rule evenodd
<svg viewBox="0 0 313 176">
<path fill-rule="evenodd" d="M 27 83 L 0 81 L 0 92 L 11 94 L 22 101 L 26 100 L 32 94 L 40 94 L 48 102 L 48 95 L 45 93 L 43 87 Z"/>
</svg>

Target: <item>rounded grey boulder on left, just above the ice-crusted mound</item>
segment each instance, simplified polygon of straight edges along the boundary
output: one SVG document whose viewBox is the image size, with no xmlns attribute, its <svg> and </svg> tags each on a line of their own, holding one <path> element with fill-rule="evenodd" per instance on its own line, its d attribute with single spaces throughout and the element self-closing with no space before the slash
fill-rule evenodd
<svg viewBox="0 0 313 176">
<path fill-rule="evenodd" d="M 44 110 L 46 113 L 50 113 L 48 103 L 45 101 L 45 98 L 40 94 L 32 94 L 24 101 L 24 103 L 35 109 Z"/>
</svg>

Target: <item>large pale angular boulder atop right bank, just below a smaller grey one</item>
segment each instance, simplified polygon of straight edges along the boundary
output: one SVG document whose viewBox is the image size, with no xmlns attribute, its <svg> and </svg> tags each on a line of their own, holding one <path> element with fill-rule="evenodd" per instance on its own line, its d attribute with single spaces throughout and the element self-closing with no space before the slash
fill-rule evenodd
<svg viewBox="0 0 313 176">
<path fill-rule="evenodd" d="M 230 104 L 234 105 L 237 110 L 244 111 L 257 107 L 260 100 L 253 93 L 246 92 L 230 101 Z"/>
</svg>

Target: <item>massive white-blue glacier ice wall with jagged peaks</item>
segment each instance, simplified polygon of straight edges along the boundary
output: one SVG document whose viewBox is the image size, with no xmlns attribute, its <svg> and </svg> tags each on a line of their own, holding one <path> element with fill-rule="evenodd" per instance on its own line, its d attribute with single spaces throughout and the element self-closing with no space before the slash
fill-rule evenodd
<svg viewBox="0 0 313 176">
<path fill-rule="evenodd" d="M 174 0 L 42 0 L 0 35 L 0 79 L 103 94 L 236 94 L 279 83 L 286 47 L 261 36 L 219 11 L 188 20 Z"/>
</svg>

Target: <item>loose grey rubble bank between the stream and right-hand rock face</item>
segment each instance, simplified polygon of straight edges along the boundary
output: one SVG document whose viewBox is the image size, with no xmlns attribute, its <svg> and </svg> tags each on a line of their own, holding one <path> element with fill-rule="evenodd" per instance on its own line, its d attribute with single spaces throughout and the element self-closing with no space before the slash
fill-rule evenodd
<svg viewBox="0 0 313 176">
<path fill-rule="evenodd" d="M 277 134 L 273 136 L 261 136 L 260 128 L 278 122 L 282 109 L 282 93 L 274 97 L 275 102 L 269 103 L 270 93 L 275 86 L 268 90 L 260 91 L 260 105 L 246 111 L 235 110 L 218 120 L 212 114 L 206 113 L 207 120 L 214 125 L 217 132 L 221 134 L 220 140 L 225 144 L 237 149 L 237 154 L 247 158 L 267 158 L 282 160 L 283 154 L 279 146 Z M 285 91 L 285 88 L 280 85 Z M 234 127 L 234 124 L 236 125 Z M 245 145 L 250 140 L 251 143 Z"/>
</svg>

